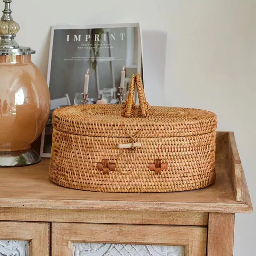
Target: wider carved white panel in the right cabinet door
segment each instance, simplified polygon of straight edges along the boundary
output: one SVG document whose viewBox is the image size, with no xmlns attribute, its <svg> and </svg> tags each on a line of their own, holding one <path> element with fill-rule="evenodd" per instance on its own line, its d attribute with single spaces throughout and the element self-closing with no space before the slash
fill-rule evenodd
<svg viewBox="0 0 256 256">
<path fill-rule="evenodd" d="M 73 256 L 184 256 L 183 246 L 74 243 Z"/>
</svg>

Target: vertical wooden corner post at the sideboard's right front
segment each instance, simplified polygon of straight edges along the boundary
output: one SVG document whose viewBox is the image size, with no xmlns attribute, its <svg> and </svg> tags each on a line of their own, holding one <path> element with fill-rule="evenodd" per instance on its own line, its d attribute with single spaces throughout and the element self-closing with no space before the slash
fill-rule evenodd
<svg viewBox="0 0 256 256">
<path fill-rule="evenodd" d="M 207 256 L 233 256 L 234 221 L 234 213 L 209 213 Z"/>
</svg>

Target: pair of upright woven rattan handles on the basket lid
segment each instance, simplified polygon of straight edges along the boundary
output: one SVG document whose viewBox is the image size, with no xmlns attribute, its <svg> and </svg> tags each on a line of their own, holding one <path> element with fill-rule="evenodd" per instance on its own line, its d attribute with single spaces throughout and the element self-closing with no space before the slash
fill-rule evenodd
<svg viewBox="0 0 256 256">
<path fill-rule="evenodd" d="M 135 84 L 137 86 L 138 98 L 140 103 L 140 116 L 148 116 L 149 104 L 146 101 L 146 96 L 144 92 L 144 87 L 142 84 L 142 79 L 140 73 L 137 73 L 137 76 L 132 75 L 131 82 L 129 85 L 128 99 L 125 100 L 123 104 L 122 116 L 132 117 L 134 116 L 135 102 L 134 102 L 134 92 Z"/>
</svg>

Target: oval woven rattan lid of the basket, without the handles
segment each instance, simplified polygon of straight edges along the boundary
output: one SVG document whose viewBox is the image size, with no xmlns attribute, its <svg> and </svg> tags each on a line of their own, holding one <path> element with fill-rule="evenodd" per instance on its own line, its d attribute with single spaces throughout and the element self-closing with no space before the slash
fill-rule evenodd
<svg viewBox="0 0 256 256">
<path fill-rule="evenodd" d="M 53 112 L 53 127 L 59 131 L 95 137 L 181 137 L 213 132 L 216 114 L 194 108 L 151 106 L 147 117 L 121 116 L 122 105 L 77 105 Z"/>
</svg>

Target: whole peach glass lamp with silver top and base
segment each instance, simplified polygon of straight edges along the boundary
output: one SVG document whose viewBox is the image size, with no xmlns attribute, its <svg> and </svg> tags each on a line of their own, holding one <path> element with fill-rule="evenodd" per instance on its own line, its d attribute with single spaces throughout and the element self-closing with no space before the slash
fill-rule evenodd
<svg viewBox="0 0 256 256">
<path fill-rule="evenodd" d="M 4 0 L 0 20 L 0 167 L 35 164 L 40 156 L 30 149 L 49 117 L 50 93 L 42 73 L 31 62 L 35 50 L 14 40 L 20 26 Z"/>
</svg>

